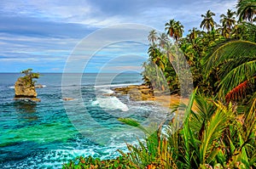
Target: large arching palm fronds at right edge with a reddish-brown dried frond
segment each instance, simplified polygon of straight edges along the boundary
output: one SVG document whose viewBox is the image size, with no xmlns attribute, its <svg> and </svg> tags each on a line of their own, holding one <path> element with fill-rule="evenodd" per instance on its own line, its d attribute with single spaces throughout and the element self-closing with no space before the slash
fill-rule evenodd
<svg viewBox="0 0 256 169">
<path fill-rule="evenodd" d="M 218 70 L 217 85 L 220 99 L 229 102 L 244 98 L 247 88 L 252 86 L 256 79 L 255 48 L 254 42 L 226 42 L 207 59 L 207 74 L 212 70 Z"/>
</svg>

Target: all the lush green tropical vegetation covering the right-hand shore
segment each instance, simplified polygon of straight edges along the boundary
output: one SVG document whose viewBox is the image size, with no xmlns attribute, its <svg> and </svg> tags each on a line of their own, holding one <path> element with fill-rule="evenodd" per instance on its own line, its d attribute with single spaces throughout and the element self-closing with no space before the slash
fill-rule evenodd
<svg viewBox="0 0 256 169">
<path fill-rule="evenodd" d="M 177 20 L 148 35 L 144 82 L 180 94 L 178 74 L 188 69 L 183 54 L 193 77 L 189 104 L 172 105 L 172 121 L 156 131 L 119 119 L 143 130 L 145 138 L 127 144 L 129 153 L 119 151 L 117 160 L 101 161 L 108 166 L 79 157 L 63 168 L 256 168 L 256 1 L 239 0 L 219 24 L 215 15 L 202 14 L 202 30 L 194 27 L 185 37 Z"/>
</svg>

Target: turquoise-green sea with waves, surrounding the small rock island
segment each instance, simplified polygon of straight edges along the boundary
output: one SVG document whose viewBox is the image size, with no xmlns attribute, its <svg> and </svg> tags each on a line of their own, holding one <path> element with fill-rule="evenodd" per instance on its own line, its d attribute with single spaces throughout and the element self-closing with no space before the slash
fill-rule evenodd
<svg viewBox="0 0 256 169">
<path fill-rule="evenodd" d="M 44 85 L 37 89 L 39 103 L 13 100 L 19 76 L 0 74 L 0 168 L 61 168 L 79 155 L 113 158 L 117 149 L 126 150 L 125 142 L 143 136 L 119 117 L 147 124 L 166 111 L 154 102 L 108 95 L 113 87 L 140 84 L 139 74 L 84 74 L 81 84 L 75 84 L 76 74 L 67 75 L 65 84 L 61 74 L 44 74 L 38 79 Z M 63 94 L 74 100 L 63 101 Z"/>
</svg>

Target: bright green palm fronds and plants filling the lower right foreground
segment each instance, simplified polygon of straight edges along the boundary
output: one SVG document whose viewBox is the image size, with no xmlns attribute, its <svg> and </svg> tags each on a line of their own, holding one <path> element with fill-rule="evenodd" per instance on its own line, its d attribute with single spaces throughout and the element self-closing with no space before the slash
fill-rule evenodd
<svg viewBox="0 0 256 169">
<path fill-rule="evenodd" d="M 128 144 L 129 159 L 138 168 L 254 168 L 256 99 L 248 108 L 241 123 L 232 106 L 195 90 L 189 104 L 172 106 L 176 114 L 165 134 L 160 132 L 162 123 L 156 131 L 148 131 L 133 119 L 119 121 L 148 136 L 145 144 L 140 140 L 137 146 Z"/>
</svg>

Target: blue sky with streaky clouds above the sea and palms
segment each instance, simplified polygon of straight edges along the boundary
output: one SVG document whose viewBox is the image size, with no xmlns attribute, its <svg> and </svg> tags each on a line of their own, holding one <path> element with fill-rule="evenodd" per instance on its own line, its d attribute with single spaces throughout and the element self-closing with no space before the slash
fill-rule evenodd
<svg viewBox="0 0 256 169">
<path fill-rule="evenodd" d="M 148 31 L 169 20 L 199 27 L 236 0 L 1 0 L 0 72 L 141 71 Z"/>
</svg>

